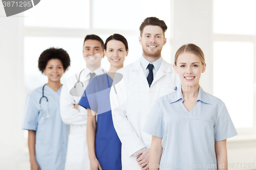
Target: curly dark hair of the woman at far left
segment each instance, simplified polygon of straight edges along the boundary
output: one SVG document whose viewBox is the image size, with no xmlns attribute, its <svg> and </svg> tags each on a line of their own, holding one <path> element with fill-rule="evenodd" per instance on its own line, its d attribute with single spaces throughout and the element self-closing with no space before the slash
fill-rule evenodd
<svg viewBox="0 0 256 170">
<path fill-rule="evenodd" d="M 70 57 L 69 54 L 62 48 L 48 48 L 41 53 L 38 59 L 38 68 L 43 73 L 46 69 L 46 65 L 51 59 L 59 59 L 63 65 L 63 69 L 66 70 L 70 66 Z"/>
</svg>

